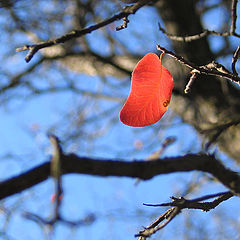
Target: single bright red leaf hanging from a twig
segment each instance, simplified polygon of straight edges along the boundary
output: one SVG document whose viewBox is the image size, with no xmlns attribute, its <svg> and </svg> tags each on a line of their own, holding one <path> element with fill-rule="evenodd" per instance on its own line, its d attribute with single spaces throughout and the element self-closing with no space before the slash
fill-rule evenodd
<svg viewBox="0 0 240 240">
<path fill-rule="evenodd" d="M 170 103 L 173 78 L 154 53 L 148 53 L 132 73 L 131 90 L 121 112 L 120 120 L 132 127 L 156 123 L 167 111 Z"/>
</svg>

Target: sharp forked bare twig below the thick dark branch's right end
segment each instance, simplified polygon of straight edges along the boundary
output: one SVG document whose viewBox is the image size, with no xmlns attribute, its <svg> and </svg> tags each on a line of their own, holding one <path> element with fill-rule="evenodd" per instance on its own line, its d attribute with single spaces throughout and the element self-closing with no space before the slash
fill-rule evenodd
<svg viewBox="0 0 240 240">
<path fill-rule="evenodd" d="M 200 198 L 195 198 L 192 200 L 187 200 L 183 197 L 175 198 L 172 197 L 172 202 L 170 203 L 162 203 L 162 204 L 144 204 L 145 206 L 150 207 L 166 207 L 170 206 L 171 208 L 165 211 L 160 217 L 158 217 L 154 222 L 152 222 L 148 227 L 144 230 L 141 230 L 135 237 L 139 237 L 139 240 L 145 240 L 150 237 L 152 234 L 156 233 L 163 227 L 165 227 L 170 221 L 172 221 L 179 213 L 181 213 L 182 209 L 200 209 L 203 211 L 210 211 L 217 207 L 220 203 L 228 200 L 233 197 L 232 192 L 221 192 L 217 194 L 210 194 Z M 212 202 L 202 202 L 204 200 L 216 198 Z M 161 223 L 161 224 L 160 224 Z M 159 225 L 160 224 L 160 225 Z"/>
</svg>

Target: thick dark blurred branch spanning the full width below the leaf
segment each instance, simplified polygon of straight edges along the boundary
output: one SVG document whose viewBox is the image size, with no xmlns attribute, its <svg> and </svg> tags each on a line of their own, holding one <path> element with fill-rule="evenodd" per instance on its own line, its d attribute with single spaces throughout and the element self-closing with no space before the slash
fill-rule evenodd
<svg viewBox="0 0 240 240">
<path fill-rule="evenodd" d="M 240 178 L 236 172 L 225 168 L 214 156 L 188 154 L 182 157 L 164 158 L 155 161 L 101 160 L 63 155 L 62 174 L 81 173 L 95 176 L 118 176 L 151 179 L 160 174 L 188 171 L 203 171 L 212 174 L 232 192 L 239 195 Z M 0 199 L 28 189 L 50 176 L 50 163 L 44 163 L 0 184 Z"/>
</svg>

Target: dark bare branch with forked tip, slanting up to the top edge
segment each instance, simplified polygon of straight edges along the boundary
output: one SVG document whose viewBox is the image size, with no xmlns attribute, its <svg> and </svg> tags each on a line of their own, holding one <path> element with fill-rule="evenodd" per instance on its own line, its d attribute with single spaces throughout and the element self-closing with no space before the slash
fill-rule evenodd
<svg viewBox="0 0 240 240">
<path fill-rule="evenodd" d="M 106 19 L 106 20 L 104 20 L 104 21 L 102 21 L 98 24 L 92 25 L 92 26 L 84 28 L 82 30 L 74 30 L 70 33 L 67 33 L 67 34 L 65 34 L 65 35 L 63 35 L 59 38 L 53 39 L 53 40 L 44 41 L 44 42 L 40 42 L 40 43 L 33 44 L 33 45 L 25 45 L 24 47 L 17 48 L 16 51 L 21 52 L 21 51 L 29 50 L 27 56 L 25 57 L 26 62 L 29 62 L 33 58 L 35 53 L 38 52 L 38 50 L 40 50 L 42 48 L 51 47 L 51 46 L 56 45 L 56 44 L 65 43 L 66 41 L 69 41 L 69 40 L 74 39 L 74 38 L 79 38 L 81 36 L 84 36 L 88 33 L 93 32 L 93 31 L 95 31 L 99 28 L 107 26 L 108 24 L 110 24 L 114 21 L 117 21 L 117 20 L 120 20 L 120 19 L 123 19 L 123 18 L 125 19 L 129 15 L 135 14 L 141 7 L 148 4 L 149 2 L 151 2 L 151 0 L 139 1 L 134 5 L 126 6 L 120 13 L 118 13 L 118 14 L 114 15 L 113 17 L 108 18 L 108 19 Z M 124 28 L 124 27 L 122 27 L 122 28 Z M 117 30 L 120 30 L 120 29 L 117 29 Z"/>
</svg>

